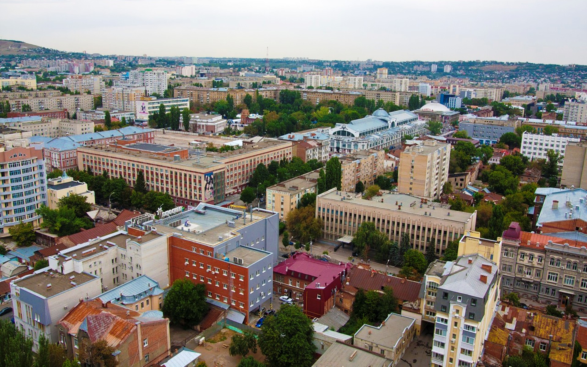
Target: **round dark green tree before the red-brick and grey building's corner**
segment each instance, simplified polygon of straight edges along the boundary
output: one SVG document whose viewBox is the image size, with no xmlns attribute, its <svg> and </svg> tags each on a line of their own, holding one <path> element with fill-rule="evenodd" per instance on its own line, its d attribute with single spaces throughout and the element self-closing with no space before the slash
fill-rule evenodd
<svg viewBox="0 0 587 367">
<path fill-rule="evenodd" d="M 197 324 L 208 313 L 205 292 L 204 284 L 194 285 L 187 279 L 174 281 L 164 299 L 163 314 L 173 324 L 190 327 Z"/>
</svg>

